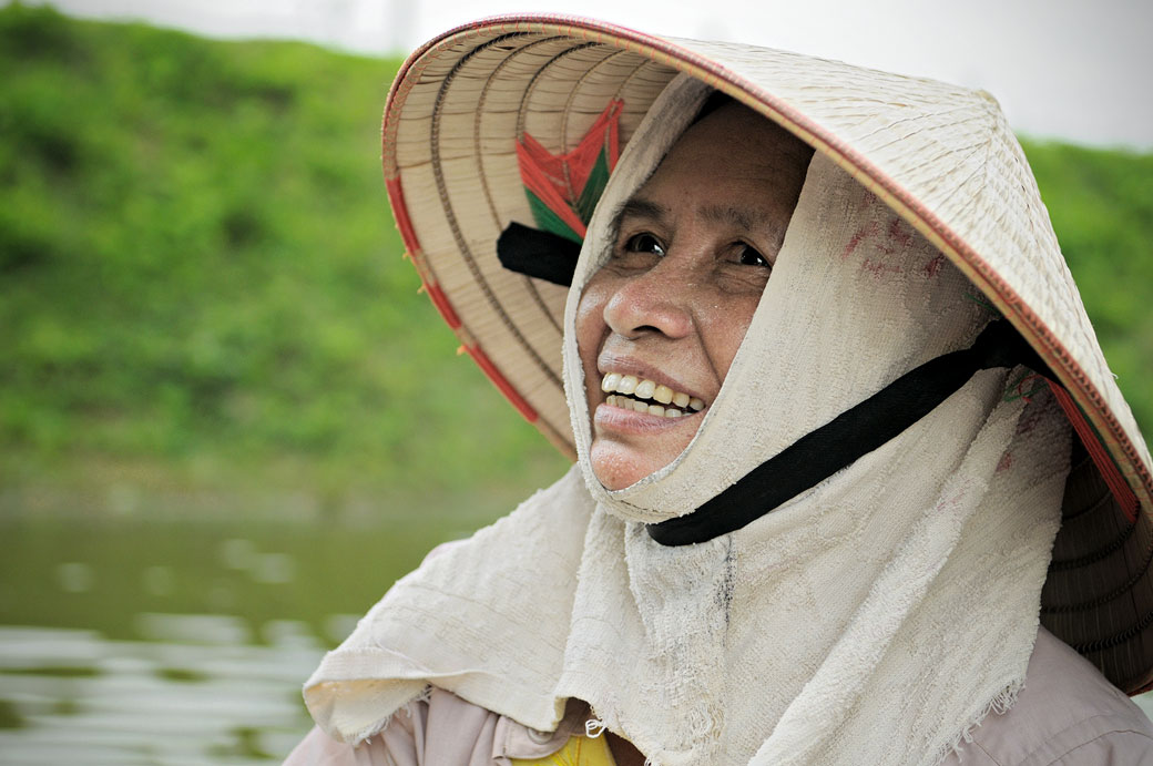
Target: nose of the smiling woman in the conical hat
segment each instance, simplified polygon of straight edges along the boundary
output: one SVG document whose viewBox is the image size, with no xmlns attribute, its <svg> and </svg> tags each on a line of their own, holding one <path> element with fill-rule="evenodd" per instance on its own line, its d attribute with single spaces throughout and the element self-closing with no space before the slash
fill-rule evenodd
<svg viewBox="0 0 1153 766">
<path fill-rule="evenodd" d="M 669 338 L 688 335 L 698 292 L 693 277 L 668 256 L 647 271 L 621 277 L 604 306 L 605 324 L 626 338 L 646 332 Z"/>
</svg>

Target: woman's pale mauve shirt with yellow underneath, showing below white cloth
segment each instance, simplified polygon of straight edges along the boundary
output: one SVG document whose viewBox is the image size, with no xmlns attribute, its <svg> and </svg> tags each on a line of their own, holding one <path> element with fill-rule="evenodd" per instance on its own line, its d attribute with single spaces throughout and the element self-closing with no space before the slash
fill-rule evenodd
<svg viewBox="0 0 1153 766">
<path fill-rule="evenodd" d="M 434 686 L 398 711 L 383 731 L 357 746 L 312 729 L 285 766 L 611 763 L 603 738 L 588 738 L 597 734 L 587 726 L 588 720 L 588 706 L 570 700 L 557 729 L 542 733 Z M 972 731 L 972 741 L 942 761 L 942 766 L 1150 764 L 1153 726 L 1145 714 L 1088 661 L 1043 628 L 1038 631 L 1026 684 L 1012 709 L 987 716 Z"/>
</svg>

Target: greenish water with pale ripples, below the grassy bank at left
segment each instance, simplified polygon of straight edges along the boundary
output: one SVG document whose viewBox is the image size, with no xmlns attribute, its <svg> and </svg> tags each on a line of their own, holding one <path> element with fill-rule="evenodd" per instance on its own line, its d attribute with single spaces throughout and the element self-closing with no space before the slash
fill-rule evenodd
<svg viewBox="0 0 1153 766">
<path fill-rule="evenodd" d="M 0 764 L 279 763 L 323 653 L 466 531 L 0 517 Z"/>
</svg>

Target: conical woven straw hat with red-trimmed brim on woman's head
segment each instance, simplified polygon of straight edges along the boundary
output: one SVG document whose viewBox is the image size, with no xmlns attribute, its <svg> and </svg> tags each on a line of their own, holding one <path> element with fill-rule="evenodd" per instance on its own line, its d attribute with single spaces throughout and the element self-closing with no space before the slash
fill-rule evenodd
<svg viewBox="0 0 1153 766">
<path fill-rule="evenodd" d="M 504 269 L 496 253 L 511 223 L 534 221 L 518 145 L 565 155 L 613 111 L 624 147 L 681 72 L 779 123 L 884 200 L 1047 362 L 1085 450 L 1075 453 L 1041 619 L 1121 689 L 1148 688 L 1148 449 L 1022 149 L 987 93 L 576 17 L 502 16 L 451 30 L 416 51 L 393 83 L 384 174 L 408 255 L 464 348 L 573 455 L 560 373 L 566 288 Z"/>
</svg>

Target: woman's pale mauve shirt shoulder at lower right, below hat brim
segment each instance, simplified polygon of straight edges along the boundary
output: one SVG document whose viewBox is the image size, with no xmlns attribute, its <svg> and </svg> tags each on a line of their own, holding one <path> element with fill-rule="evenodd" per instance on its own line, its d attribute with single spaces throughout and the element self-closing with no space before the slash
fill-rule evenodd
<svg viewBox="0 0 1153 766">
<path fill-rule="evenodd" d="M 1153 724 L 1101 673 L 1043 628 L 1025 688 L 990 713 L 945 766 L 1153 765 Z"/>
</svg>

